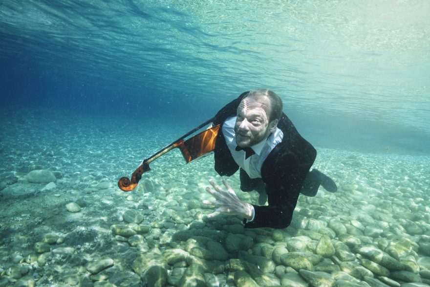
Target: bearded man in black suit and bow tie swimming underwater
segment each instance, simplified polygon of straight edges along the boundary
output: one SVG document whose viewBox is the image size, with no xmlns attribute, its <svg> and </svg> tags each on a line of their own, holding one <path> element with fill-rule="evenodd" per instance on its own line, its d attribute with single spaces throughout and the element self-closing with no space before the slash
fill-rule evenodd
<svg viewBox="0 0 430 287">
<path fill-rule="evenodd" d="M 232 176 L 240 168 L 240 189 L 257 190 L 259 206 L 237 198 L 223 179 L 225 189 L 209 180 L 206 191 L 215 200 L 215 212 L 239 215 L 246 228 L 285 228 L 292 219 L 299 194 L 315 196 L 320 185 L 336 192 L 336 183 L 320 171 L 309 171 L 317 152 L 282 112 L 282 101 L 272 90 L 242 93 L 219 110 L 213 122 L 220 124 L 215 142 L 215 171 Z M 264 206 L 265 202 L 267 206 Z"/>
</svg>

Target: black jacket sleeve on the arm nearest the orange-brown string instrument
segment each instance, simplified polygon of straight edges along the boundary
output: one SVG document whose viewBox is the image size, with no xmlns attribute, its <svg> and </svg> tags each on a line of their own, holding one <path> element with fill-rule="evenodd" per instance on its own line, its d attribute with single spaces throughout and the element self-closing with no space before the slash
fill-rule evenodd
<svg viewBox="0 0 430 287">
<path fill-rule="evenodd" d="M 239 169 L 239 166 L 233 159 L 233 156 L 231 155 L 230 150 L 225 142 L 224 135 L 222 134 L 222 125 L 228 117 L 236 115 L 237 106 L 239 106 L 240 101 L 248 93 L 249 92 L 242 93 L 237 99 L 231 101 L 224 108 L 219 110 L 215 115 L 214 125 L 221 125 L 219 128 L 219 132 L 216 136 L 214 150 L 215 171 L 220 176 L 230 177 L 234 175 Z"/>
</svg>

